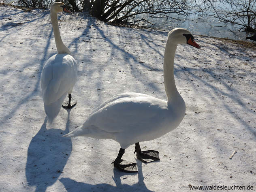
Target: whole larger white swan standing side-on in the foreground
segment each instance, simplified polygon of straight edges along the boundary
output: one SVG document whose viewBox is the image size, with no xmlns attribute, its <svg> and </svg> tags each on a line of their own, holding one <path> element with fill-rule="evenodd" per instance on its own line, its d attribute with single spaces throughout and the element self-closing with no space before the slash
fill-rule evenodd
<svg viewBox="0 0 256 192">
<path fill-rule="evenodd" d="M 113 163 L 124 172 L 137 172 L 136 163 L 120 164 L 124 149 L 134 143 L 134 153 L 137 152 L 139 160 L 159 160 L 158 151 L 141 151 L 139 142 L 153 140 L 170 132 L 181 123 L 185 115 L 186 105 L 177 91 L 173 74 L 175 51 L 177 44 L 181 43 L 200 49 L 188 30 L 176 28 L 169 33 L 164 51 L 167 101 L 140 93 L 115 95 L 95 109 L 82 126 L 64 137 L 85 136 L 117 141 L 121 148 Z"/>
</svg>

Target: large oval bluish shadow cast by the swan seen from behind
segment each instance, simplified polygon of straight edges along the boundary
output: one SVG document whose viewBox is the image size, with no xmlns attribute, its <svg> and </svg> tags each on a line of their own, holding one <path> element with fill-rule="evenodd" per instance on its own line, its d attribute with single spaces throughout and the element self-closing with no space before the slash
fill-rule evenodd
<svg viewBox="0 0 256 192">
<path fill-rule="evenodd" d="M 62 135 L 69 132 L 69 115 L 64 131 L 47 129 L 47 117 L 28 147 L 26 179 L 28 186 L 35 186 L 36 192 L 47 190 L 57 181 L 72 151 L 70 138 Z"/>
</svg>

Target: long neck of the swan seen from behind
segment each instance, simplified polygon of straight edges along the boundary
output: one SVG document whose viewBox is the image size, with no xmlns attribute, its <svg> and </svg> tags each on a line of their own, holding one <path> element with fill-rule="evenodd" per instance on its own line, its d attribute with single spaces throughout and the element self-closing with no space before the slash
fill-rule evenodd
<svg viewBox="0 0 256 192">
<path fill-rule="evenodd" d="M 54 38 L 55 38 L 55 44 L 56 44 L 58 53 L 68 53 L 69 55 L 71 55 L 71 52 L 69 51 L 68 47 L 66 47 L 66 45 L 64 45 L 64 43 L 62 42 L 62 39 L 61 39 L 60 29 L 59 29 L 58 19 L 57 19 L 57 13 L 55 13 L 51 9 L 50 15 L 51 15 L 51 23 L 52 23 L 53 33 L 54 33 Z"/>
</svg>

